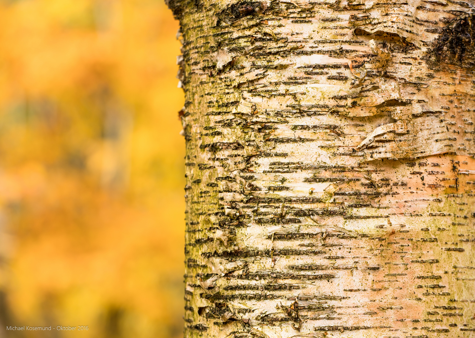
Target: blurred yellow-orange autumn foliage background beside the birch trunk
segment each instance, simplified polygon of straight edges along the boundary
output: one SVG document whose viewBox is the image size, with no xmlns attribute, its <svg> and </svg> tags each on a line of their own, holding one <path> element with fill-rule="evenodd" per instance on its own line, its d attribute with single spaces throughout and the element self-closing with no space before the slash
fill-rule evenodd
<svg viewBox="0 0 475 338">
<path fill-rule="evenodd" d="M 0 0 L 0 22 L 0 337 L 180 337 L 178 23 L 163 0 Z"/>
</svg>

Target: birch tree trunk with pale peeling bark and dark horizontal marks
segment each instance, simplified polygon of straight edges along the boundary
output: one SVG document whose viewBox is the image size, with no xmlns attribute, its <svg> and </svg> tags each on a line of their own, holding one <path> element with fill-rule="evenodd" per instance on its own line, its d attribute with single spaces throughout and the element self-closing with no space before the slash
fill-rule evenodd
<svg viewBox="0 0 475 338">
<path fill-rule="evenodd" d="M 474 4 L 168 5 L 185 337 L 473 337 Z"/>
</svg>

